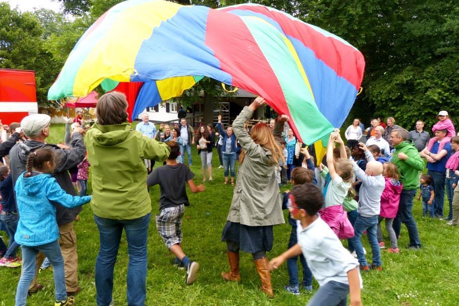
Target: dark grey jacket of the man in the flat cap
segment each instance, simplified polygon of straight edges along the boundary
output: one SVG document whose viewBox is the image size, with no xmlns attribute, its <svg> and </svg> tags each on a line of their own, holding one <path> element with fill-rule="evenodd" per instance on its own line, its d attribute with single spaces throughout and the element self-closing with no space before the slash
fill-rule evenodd
<svg viewBox="0 0 459 306">
<path fill-rule="evenodd" d="M 28 155 L 39 148 L 48 148 L 54 150 L 56 155 L 56 169 L 53 176 L 62 189 L 68 194 L 77 195 L 72 181 L 70 180 L 68 170 L 81 163 L 86 155 L 86 147 L 84 146 L 83 137 L 80 133 L 72 134 L 70 145 L 72 149 L 67 150 L 61 149 L 54 144 L 47 144 L 35 140 L 26 140 L 17 143 L 10 150 L 10 169 L 11 176 L 13 177 L 13 186 L 15 186 L 19 175 L 26 171 Z M 56 205 L 56 220 L 58 225 L 61 226 L 72 222 L 81 210 L 81 207 L 67 209 L 61 205 Z"/>
</svg>

